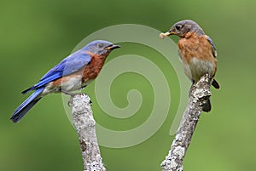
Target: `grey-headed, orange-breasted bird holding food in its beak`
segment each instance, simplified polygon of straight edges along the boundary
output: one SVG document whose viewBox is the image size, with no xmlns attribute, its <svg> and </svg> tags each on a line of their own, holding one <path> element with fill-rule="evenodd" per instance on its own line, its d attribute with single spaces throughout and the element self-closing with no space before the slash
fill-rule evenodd
<svg viewBox="0 0 256 171">
<path fill-rule="evenodd" d="M 204 74 L 209 74 L 212 79 L 217 70 L 217 51 L 212 39 L 208 37 L 201 27 L 193 20 L 181 20 L 175 23 L 170 31 L 161 33 L 164 38 L 169 35 L 177 35 L 178 54 L 183 63 L 185 75 L 192 83 L 197 83 Z M 219 84 L 212 79 L 212 86 L 219 88 Z M 211 111 L 210 99 L 203 107 L 203 111 Z"/>
</svg>

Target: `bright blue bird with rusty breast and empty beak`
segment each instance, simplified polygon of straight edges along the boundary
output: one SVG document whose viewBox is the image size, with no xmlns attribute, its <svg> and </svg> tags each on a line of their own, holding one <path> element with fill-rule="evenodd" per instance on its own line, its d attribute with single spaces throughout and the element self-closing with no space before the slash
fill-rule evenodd
<svg viewBox="0 0 256 171">
<path fill-rule="evenodd" d="M 86 87 L 97 77 L 108 54 L 114 48 L 120 48 L 120 46 L 107 41 L 96 40 L 67 56 L 49 70 L 38 83 L 22 92 L 22 94 L 26 94 L 35 90 L 17 107 L 10 119 L 14 123 L 20 121 L 26 112 L 46 94 L 64 93 L 71 95 L 72 93 L 69 92 Z"/>
</svg>

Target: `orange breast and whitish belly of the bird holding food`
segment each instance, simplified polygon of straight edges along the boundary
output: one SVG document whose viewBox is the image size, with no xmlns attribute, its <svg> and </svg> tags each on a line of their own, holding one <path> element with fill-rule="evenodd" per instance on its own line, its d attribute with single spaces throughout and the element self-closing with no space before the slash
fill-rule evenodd
<svg viewBox="0 0 256 171">
<path fill-rule="evenodd" d="M 217 69 L 217 60 L 212 54 L 212 45 L 207 36 L 197 36 L 189 33 L 180 38 L 177 43 L 185 74 L 189 79 L 197 82 L 205 73 L 214 77 Z"/>
</svg>

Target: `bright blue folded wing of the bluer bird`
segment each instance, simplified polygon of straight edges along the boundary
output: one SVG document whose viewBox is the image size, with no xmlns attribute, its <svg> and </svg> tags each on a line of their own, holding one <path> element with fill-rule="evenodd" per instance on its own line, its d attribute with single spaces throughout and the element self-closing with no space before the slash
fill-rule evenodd
<svg viewBox="0 0 256 171">
<path fill-rule="evenodd" d="M 27 88 L 22 92 L 22 94 L 26 94 L 27 92 L 41 88 L 47 83 L 50 83 L 60 77 L 67 76 L 72 74 L 75 71 L 79 71 L 85 65 L 90 63 L 90 54 L 86 54 L 84 51 L 79 50 L 73 54 L 70 54 L 62 60 L 58 65 L 49 70 L 44 77 L 40 79 L 38 83 L 36 83 L 31 88 Z"/>
</svg>

